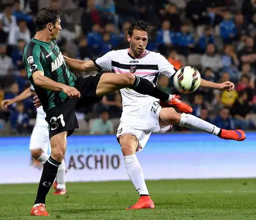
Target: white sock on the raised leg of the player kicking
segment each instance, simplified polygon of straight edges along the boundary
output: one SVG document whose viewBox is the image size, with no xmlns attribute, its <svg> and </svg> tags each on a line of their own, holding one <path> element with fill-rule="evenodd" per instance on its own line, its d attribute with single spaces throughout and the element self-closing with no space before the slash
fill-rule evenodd
<svg viewBox="0 0 256 220">
<path fill-rule="evenodd" d="M 214 124 L 211 124 L 202 119 L 199 119 L 196 116 L 189 115 L 186 113 L 181 113 L 179 126 L 201 130 L 206 133 L 214 134 L 216 136 L 221 130 L 219 127 L 215 126 Z"/>
</svg>

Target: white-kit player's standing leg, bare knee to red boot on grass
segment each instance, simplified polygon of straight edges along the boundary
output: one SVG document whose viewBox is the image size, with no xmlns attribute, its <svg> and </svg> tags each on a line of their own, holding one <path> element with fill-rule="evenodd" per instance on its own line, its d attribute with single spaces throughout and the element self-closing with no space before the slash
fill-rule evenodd
<svg viewBox="0 0 256 220">
<path fill-rule="evenodd" d="M 126 209 L 154 208 L 154 203 L 149 196 L 144 180 L 142 168 L 135 154 L 138 146 L 137 138 L 131 134 L 125 134 L 119 138 L 119 144 L 122 147 L 127 174 L 136 191 L 140 194 L 138 202 Z"/>
</svg>

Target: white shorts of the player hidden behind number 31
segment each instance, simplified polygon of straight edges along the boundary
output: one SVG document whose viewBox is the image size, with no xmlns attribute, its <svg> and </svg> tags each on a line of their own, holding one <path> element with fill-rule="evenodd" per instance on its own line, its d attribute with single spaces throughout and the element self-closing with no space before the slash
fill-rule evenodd
<svg viewBox="0 0 256 220">
<path fill-rule="evenodd" d="M 51 148 L 51 145 L 48 127 L 35 126 L 31 134 L 29 150 L 42 149 L 44 153 L 48 153 L 49 148 Z"/>
</svg>

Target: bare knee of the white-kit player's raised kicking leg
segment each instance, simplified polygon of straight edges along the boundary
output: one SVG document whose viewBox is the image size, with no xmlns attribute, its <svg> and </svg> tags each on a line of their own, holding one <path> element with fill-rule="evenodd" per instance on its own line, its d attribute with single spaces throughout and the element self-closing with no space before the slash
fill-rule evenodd
<svg viewBox="0 0 256 220">
<path fill-rule="evenodd" d="M 160 127 L 168 126 L 170 124 L 179 124 L 180 113 L 177 113 L 174 108 L 162 108 L 159 113 L 159 125 Z"/>
</svg>

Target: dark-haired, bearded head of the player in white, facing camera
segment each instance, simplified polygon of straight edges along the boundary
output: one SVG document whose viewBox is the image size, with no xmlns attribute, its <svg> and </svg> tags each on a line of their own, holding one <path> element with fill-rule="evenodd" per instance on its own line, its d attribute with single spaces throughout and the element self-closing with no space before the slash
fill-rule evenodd
<svg viewBox="0 0 256 220">
<path fill-rule="evenodd" d="M 130 24 L 127 40 L 134 56 L 140 56 L 148 44 L 149 26 L 143 20 L 135 20 Z"/>
</svg>

